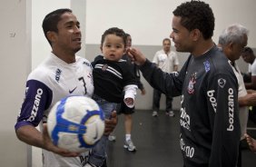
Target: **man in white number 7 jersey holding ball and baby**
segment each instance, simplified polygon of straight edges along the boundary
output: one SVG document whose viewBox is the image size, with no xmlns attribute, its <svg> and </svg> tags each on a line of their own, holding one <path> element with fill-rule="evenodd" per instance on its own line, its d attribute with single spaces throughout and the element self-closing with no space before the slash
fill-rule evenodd
<svg viewBox="0 0 256 167">
<path fill-rule="evenodd" d="M 15 123 L 15 132 L 19 140 L 43 149 L 44 167 L 82 167 L 89 152 L 69 152 L 54 146 L 45 123 L 54 103 L 65 96 L 92 96 L 92 65 L 75 56 L 81 49 L 81 31 L 70 9 L 58 9 L 46 15 L 43 29 L 52 53 L 27 78 L 25 101 Z M 112 119 L 105 121 L 105 134 L 113 131 L 116 122 L 116 113 L 113 113 Z M 39 123 L 44 125 L 44 133 L 35 128 Z"/>
</svg>

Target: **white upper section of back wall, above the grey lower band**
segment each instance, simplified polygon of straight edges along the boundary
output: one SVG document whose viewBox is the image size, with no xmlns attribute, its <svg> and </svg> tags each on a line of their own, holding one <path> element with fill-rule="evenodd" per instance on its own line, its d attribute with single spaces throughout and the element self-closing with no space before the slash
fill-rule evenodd
<svg viewBox="0 0 256 167">
<path fill-rule="evenodd" d="M 125 2 L 125 3 L 124 3 Z M 103 31 L 118 26 L 133 35 L 133 44 L 160 45 L 172 30 L 172 11 L 185 0 L 97 0 L 86 5 L 86 44 L 99 44 Z M 251 30 L 249 45 L 256 46 L 255 0 L 205 0 L 215 15 L 213 39 L 227 25 L 240 23 Z"/>
</svg>

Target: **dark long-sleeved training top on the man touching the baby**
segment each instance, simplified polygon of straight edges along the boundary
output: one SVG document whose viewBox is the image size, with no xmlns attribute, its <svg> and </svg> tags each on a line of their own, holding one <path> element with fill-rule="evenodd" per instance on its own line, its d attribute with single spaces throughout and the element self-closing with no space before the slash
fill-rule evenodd
<svg viewBox="0 0 256 167">
<path fill-rule="evenodd" d="M 189 56 L 181 72 L 141 66 L 154 88 L 181 96 L 180 144 L 186 167 L 236 166 L 240 142 L 238 83 L 228 59 L 214 46 Z"/>
</svg>

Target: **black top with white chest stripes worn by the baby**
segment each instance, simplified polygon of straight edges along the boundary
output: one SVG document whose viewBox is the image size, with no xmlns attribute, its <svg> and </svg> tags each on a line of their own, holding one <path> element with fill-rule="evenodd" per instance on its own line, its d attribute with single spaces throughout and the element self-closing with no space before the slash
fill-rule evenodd
<svg viewBox="0 0 256 167">
<path fill-rule="evenodd" d="M 104 100 L 121 103 L 125 86 L 132 85 L 137 88 L 132 64 L 128 64 L 126 60 L 121 59 L 119 62 L 114 62 L 98 55 L 92 64 L 94 66 L 94 94 Z"/>
</svg>

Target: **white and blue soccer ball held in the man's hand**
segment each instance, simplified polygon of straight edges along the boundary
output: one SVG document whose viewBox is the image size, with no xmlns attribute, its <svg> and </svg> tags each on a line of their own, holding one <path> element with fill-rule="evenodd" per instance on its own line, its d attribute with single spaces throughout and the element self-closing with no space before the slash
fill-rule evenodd
<svg viewBox="0 0 256 167">
<path fill-rule="evenodd" d="M 87 152 L 103 136 L 103 111 L 91 98 L 65 97 L 51 109 L 47 129 L 54 145 L 70 152 Z"/>
</svg>

